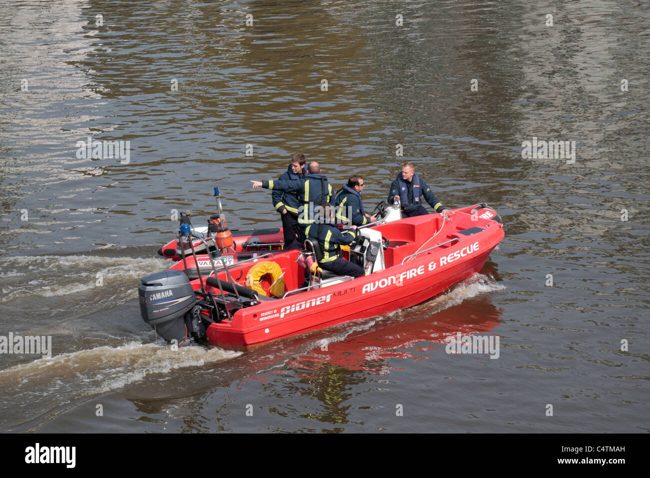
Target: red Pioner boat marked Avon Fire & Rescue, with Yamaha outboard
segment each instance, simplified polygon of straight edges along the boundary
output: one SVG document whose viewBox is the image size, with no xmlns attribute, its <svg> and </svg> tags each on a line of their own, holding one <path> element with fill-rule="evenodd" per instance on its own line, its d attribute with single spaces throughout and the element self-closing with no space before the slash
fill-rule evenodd
<svg viewBox="0 0 650 478">
<path fill-rule="evenodd" d="M 454 209 L 448 218 L 430 214 L 360 232 L 348 258 L 366 276 L 323 271 L 300 287 L 299 250 L 235 263 L 192 282 L 181 271 L 163 271 L 142 279 L 142 317 L 168 341 L 252 347 L 424 302 L 480 271 L 504 237 L 499 215 L 485 204 Z"/>
</svg>

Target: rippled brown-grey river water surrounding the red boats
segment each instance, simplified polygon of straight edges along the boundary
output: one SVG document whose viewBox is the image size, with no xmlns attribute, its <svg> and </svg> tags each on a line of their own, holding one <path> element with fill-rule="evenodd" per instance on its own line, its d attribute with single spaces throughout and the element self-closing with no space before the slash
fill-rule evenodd
<svg viewBox="0 0 650 478">
<path fill-rule="evenodd" d="M 0 355 L 0 431 L 650 431 L 647 3 L 0 6 L 0 335 L 52 338 Z M 523 157 L 534 138 L 575 162 Z M 296 152 L 363 174 L 367 206 L 412 161 L 506 237 L 408 310 L 248 352 L 151 343 L 136 289 L 173 210 L 214 213 L 216 185 L 231 227 L 279 226 L 250 179 Z M 457 332 L 499 358 L 446 353 Z"/>
</svg>

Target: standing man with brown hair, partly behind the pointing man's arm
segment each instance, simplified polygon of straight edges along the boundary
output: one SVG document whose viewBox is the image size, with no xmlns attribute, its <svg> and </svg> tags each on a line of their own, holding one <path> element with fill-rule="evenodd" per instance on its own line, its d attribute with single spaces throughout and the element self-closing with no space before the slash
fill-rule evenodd
<svg viewBox="0 0 650 478">
<path fill-rule="evenodd" d="M 292 181 L 305 177 L 305 155 L 296 153 L 291 158 L 291 164 L 287 170 L 278 178 L 279 181 Z M 298 227 L 298 194 L 285 193 L 279 189 L 274 189 L 271 193 L 273 207 L 280 213 L 282 219 L 282 232 L 285 239 L 285 249 L 302 249 L 302 244 L 296 239 L 300 235 Z"/>
</svg>

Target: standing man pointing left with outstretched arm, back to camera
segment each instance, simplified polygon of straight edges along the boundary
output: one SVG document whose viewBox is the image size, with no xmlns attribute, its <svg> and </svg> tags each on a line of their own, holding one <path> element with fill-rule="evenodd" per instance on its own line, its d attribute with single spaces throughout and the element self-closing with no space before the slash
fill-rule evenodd
<svg viewBox="0 0 650 478">
<path fill-rule="evenodd" d="M 314 222 L 314 207 L 321 206 L 330 202 L 331 185 L 327 181 L 327 176 L 321 174 L 320 165 L 316 161 L 311 161 L 307 167 L 307 176 L 291 181 L 250 181 L 253 183 L 253 189 L 263 187 L 265 189 L 278 189 L 285 193 L 298 193 L 298 241 L 304 243 L 305 228 Z"/>
</svg>

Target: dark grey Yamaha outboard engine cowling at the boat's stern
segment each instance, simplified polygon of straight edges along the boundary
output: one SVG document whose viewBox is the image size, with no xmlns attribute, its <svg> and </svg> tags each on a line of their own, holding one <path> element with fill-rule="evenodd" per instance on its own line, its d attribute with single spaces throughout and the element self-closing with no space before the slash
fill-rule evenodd
<svg viewBox="0 0 650 478">
<path fill-rule="evenodd" d="M 185 313 L 198 299 L 183 271 L 156 272 L 141 279 L 138 287 L 140 315 L 166 341 L 181 343 L 192 330 L 185 326 Z"/>
</svg>

